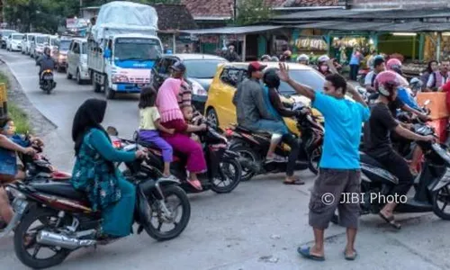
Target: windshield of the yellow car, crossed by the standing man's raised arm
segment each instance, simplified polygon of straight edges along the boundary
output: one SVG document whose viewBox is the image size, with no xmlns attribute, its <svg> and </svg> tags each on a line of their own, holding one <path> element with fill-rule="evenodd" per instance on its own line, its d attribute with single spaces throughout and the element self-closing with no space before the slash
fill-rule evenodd
<svg viewBox="0 0 450 270">
<path fill-rule="evenodd" d="M 323 85 L 325 84 L 325 78 L 315 70 L 290 70 L 289 76 L 303 85 L 309 85 L 316 91 L 323 91 Z M 278 88 L 280 94 L 295 94 L 293 87 L 282 82 L 280 88 Z"/>
</svg>

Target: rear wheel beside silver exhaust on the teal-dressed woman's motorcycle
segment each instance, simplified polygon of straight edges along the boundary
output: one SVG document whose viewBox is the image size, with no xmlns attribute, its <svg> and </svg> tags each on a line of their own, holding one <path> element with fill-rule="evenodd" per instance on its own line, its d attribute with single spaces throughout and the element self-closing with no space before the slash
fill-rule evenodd
<svg viewBox="0 0 450 270">
<path fill-rule="evenodd" d="M 23 265 L 33 269 L 49 268 L 51 266 L 58 266 L 70 254 L 70 250 L 62 247 L 44 247 L 36 243 L 36 235 L 41 229 L 54 230 L 55 221 L 58 219 L 57 211 L 50 211 L 42 208 L 32 208 L 28 211 L 23 220 L 16 227 L 14 232 L 14 251 L 15 255 L 23 263 Z M 35 222 L 46 223 L 37 226 L 35 232 L 31 232 L 31 226 Z M 39 229 L 38 229 L 39 228 Z M 28 238 L 27 238 L 28 237 Z M 31 238 L 30 238 L 31 237 Z M 24 240 L 29 239 L 30 242 L 25 247 Z M 53 256 L 47 258 L 38 258 L 40 249 L 46 248 L 54 253 Z M 31 249 L 32 254 L 28 252 Z M 46 252 L 47 254 L 47 252 Z"/>
</svg>

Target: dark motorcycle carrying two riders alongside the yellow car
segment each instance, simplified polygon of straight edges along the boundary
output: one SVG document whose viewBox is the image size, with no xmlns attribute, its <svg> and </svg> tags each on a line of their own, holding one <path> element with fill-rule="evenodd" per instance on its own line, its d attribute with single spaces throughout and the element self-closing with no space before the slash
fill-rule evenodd
<svg viewBox="0 0 450 270">
<path fill-rule="evenodd" d="M 296 116 L 296 123 L 297 128 L 302 130 L 302 135 L 298 139 L 300 152 L 295 169 L 309 168 L 313 174 L 317 175 L 318 163 L 322 154 L 324 128 L 320 125 L 317 117 L 312 115 L 311 108 L 303 103 L 294 103 L 293 111 L 301 112 Z M 240 157 L 243 171 L 242 181 L 248 181 L 255 175 L 286 171 L 287 161 L 266 164 L 265 159 L 272 134 L 266 131 L 247 130 L 241 126 L 229 128 L 226 132 L 232 139 L 230 149 L 237 152 Z M 288 157 L 290 148 L 282 143 L 277 146 L 275 153 L 281 157 Z"/>
</svg>

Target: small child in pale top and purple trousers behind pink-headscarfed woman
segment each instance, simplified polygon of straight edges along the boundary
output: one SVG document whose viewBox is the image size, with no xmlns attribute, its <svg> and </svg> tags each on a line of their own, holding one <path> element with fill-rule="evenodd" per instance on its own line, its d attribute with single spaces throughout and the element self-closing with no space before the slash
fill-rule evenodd
<svg viewBox="0 0 450 270">
<path fill-rule="evenodd" d="M 160 148 L 163 154 L 164 171 L 163 175 L 167 179 L 174 180 L 175 176 L 170 174 L 170 162 L 172 162 L 173 149 L 159 136 L 159 131 L 174 134 L 174 129 L 166 129 L 161 125 L 161 116 L 155 106 L 157 92 L 153 87 L 148 86 L 142 89 L 139 97 L 139 139 L 151 143 Z"/>
</svg>

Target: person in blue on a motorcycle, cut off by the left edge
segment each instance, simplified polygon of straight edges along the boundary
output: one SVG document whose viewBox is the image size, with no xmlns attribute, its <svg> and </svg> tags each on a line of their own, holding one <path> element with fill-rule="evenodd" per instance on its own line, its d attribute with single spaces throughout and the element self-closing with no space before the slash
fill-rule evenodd
<svg viewBox="0 0 450 270">
<path fill-rule="evenodd" d="M 31 138 L 31 142 L 38 138 Z M 17 152 L 24 155 L 34 155 L 36 151 L 30 147 L 30 141 L 25 141 L 15 134 L 14 121 L 5 117 L 0 119 L 0 229 L 4 229 L 13 218 L 14 211 L 9 204 L 8 195 L 4 191 L 3 184 L 25 178 L 22 161 L 17 157 Z"/>
</svg>

